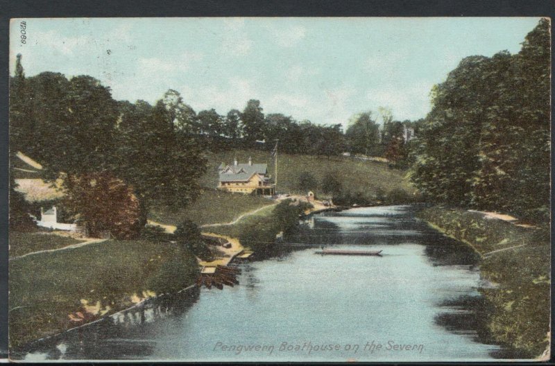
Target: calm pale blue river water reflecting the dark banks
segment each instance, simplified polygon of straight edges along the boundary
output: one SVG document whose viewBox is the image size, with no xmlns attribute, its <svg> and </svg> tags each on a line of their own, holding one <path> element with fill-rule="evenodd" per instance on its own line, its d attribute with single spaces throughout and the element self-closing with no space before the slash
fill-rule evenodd
<svg viewBox="0 0 555 366">
<path fill-rule="evenodd" d="M 415 210 L 315 215 L 290 250 L 241 263 L 239 285 L 158 304 L 157 316 L 66 333 L 25 360 L 491 360 L 500 349 L 479 336 L 477 254 Z M 315 254 L 321 247 L 383 255 Z"/>
</svg>

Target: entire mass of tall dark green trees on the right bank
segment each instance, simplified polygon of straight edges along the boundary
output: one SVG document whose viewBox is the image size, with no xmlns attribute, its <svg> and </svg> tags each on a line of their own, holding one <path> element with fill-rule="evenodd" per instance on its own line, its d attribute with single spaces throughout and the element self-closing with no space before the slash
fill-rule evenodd
<svg viewBox="0 0 555 366">
<path fill-rule="evenodd" d="M 518 54 L 461 61 L 432 91 L 412 180 L 428 199 L 549 218 L 549 21 Z"/>
</svg>

